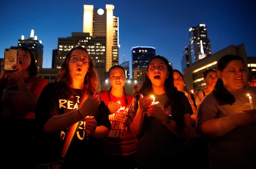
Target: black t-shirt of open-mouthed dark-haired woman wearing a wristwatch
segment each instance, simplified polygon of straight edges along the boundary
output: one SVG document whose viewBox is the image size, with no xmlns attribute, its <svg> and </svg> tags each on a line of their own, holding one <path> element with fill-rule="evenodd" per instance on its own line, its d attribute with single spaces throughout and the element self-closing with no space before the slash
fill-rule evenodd
<svg viewBox="0 0 256 169">
<path fill-rule="evenodd" d="M 183 92 L 178 92 L 180 107 L 183 114 L 193 113 L 192 108 L 188 102 L 187 97 Z M 157 106 L 166 110 L 170 114 L 171 107 L 164 108 L 167 100 L 166 94 L 155 96 L 155 102 L 159 102 Z M 131 121 L 134 120 L 137 109 L 134 109 L 134 100 L 126 113 Z M 136 161 L 140 166 L 153 168 L 170 168 L 179 165 L 181 159 L 184 158 L 184 140 L 175 136 L 162 121 L 147 115 L 144 112 L 143 131 L 142 135 L 138 137 Z M 181 164 L 180 164 L 181 165 Z"/>
</svg>

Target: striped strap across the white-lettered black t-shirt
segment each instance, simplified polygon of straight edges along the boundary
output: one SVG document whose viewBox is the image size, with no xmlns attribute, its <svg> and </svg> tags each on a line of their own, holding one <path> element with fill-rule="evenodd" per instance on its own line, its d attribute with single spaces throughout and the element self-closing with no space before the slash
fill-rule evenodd
<svg viewBox="0 0 256 169">
<path fill-rule="evenodd" d="M 80 104 L 79 104 L 79 108 L 81 107 L 81 105 L 83 104 L 83 102 L 84 102 L 86 99 L 87 99 L 87 95 L 84 94 L 84 95 L 83 95 L 83 98 L 82 98 L 82 100 L 81 100 L 81 102 L 80 102 Z M 65 140 L 65 143 L 64 143 L 64 146 L 63 146 L 63 149 L 62 149 L 62 152 L 61 152 L 61 157 L 63 157 L 63 158 L 66 156 L 66 153 L 67 153 L 68 148 L 69 148 L 69 146 L 70 146 L 70 144 L 71 144 L 71 141 L 73 140 L 73 136 L 74 136 L 74 134 L 76 133 L 76 130 L 77 130 L 77 128 L 78 128 L 78 124 L 79 124 L 79 123 L 80 123 L 80 121 L 76 122 L 76 123 L 73 124 L 73 125 L 69 128 L 69 130 L 68 130 L 68 136 L 67 136 L 67 138 L 66 138 L 66 140 Z"/>
</svg>

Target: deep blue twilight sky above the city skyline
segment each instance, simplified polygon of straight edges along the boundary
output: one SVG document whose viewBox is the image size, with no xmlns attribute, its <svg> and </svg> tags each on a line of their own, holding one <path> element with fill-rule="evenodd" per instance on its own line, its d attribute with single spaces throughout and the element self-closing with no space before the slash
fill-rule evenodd
<svg viewBox="0 0 256 169">
<path fill-rule="evenodd" d="M 157 55 L 167 57 L 173 68 L 181 70 L 184 47 L 189 44 L 188 29 L 200 22 L 207 27 L 212 53 L 244 43 L 247 55 L 256 56 L 256 3 L 251 0 L 0 0 L 0 58 L 5 48 L 17 46 L 21 35 L 27 38 L 34 29 L 44 46 L 43 68 L 50 68 L 58 37 L 83 31 L 84 4 L 115 6 L 121 44 L 119 63 L 129 60 L 131 65 L 132 47 L 152 46 Z"/>
</svg>

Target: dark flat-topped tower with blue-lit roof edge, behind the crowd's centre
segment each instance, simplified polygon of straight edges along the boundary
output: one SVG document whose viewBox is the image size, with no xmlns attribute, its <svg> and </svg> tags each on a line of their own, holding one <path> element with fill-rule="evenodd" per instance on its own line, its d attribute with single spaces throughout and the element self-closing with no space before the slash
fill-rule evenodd
<svg viewBox="0 0 256 169">
<path fill-rule="evenodd" d="M 147 46 L 132 47 L 132 72 L 133 79 L 143 81 L 146 77 L 147 63 L 155 56 L 155 48 Z"/>
</svg>

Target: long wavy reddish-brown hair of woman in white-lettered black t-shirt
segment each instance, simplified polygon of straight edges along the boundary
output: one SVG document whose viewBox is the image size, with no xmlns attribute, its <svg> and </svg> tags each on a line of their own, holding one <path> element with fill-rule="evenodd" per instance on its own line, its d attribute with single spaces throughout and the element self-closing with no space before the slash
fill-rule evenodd
<svg viewBox="0 0 256 169">
<path fill-rule="evenodd" d="M 76 49 L 83 50 L 88 54 L 88 51 L 81 46 L 72 48 L 67 53 L 65 60 L 62 64 L 61 69 L 58 72 L 58 75 L 56 78 L 56 81 L 63 82 L 68 86 L 69 91 L 67 91 L 67 94 L 69 97 L 72 96 L 72 93 L 73 93 L 72 89 L 71 89 L 73 79 L 72 79 L 69 69 L 68 69 L 68 62 L 70 60 L 71 53 Z M 89 56 L 89 54 L 88 54 L 88 56 Z M 81 90 L 84 92 L 84 94 L 88 94 L 88 96 L 90 96 L 93 94 L 98 94 L 101 88 L 100 88 L 98 73 L 94 70 L 93 60 L 91 59 L 90 56 L 88 57 L 88 62 L 89 62 L 89 68 L 88 68 L 88 72 L 85 75 L 84 85 L 82 86 Z M 69 92 L 71 92 L 71 93 L 69 93 Z"/>
</svg>

